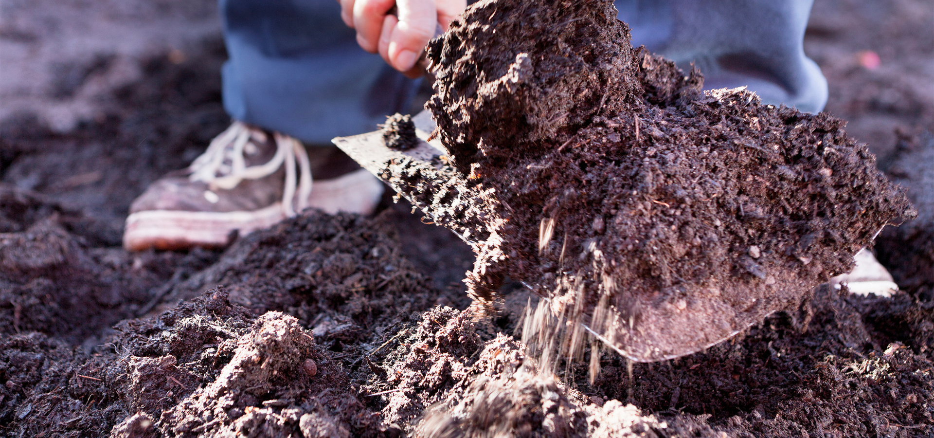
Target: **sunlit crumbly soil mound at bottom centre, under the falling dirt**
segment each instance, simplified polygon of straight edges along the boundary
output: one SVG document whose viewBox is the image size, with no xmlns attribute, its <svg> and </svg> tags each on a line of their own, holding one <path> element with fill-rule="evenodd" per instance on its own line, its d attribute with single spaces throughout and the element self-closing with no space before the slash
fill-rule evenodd
<svg viewBox="0 0 934 438">
<path fill-rule="evenodd" d="M 400 331 L 385 357 L 375 355 L 382 365 L 370 365 L 376 377 L 366 388 L 380 389 L 372 395 L 383 398 L 376 405 L 388 430 L 417 437 L 719 436 L 702 418 L 663 422 L 631 404 L 594 403 L 542 373 L 512 336 L 483 343 L 476 330 L 469 312 L 439 307 Z"/>
</svg>

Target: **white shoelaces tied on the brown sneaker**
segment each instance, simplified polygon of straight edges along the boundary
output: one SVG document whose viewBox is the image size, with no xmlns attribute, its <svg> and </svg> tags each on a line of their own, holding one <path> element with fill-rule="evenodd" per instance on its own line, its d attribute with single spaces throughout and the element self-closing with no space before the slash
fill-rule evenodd
<svg viewBox="0 0 934 438">
<path fill-rule="evenodd" d="M 282 208 L 287 217 L 295 216 L 296 211 L 302 211 L 308 206 L 308 195 L 311 194 L 312 185 L 311 163 L 302 142 L 289 135 L 274 135 L 276 155 L 272 160 L 248 166 L 244 153 L 256 153 L 259 150 L 257 143 L 264 143 L 267 136 L 261 130 L 234 121 L 230 128 L 211 141 L 205 153 L 191 162 L 189 178 L 191 181 L 207 183 L 212 190 L 231 190 L 244 179 L 268 177 L 285 163 L 286 184 L 282 194 Z M 296 158 L 301 168 L 299 176 L 296 175 Z"/>
</svg>

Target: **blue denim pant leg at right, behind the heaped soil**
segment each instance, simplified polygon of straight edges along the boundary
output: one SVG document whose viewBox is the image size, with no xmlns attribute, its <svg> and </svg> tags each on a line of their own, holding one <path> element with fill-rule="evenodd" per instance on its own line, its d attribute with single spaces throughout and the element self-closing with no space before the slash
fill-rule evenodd
<svg viewBox="0 0 934 438">
<path fill-rule="evenodd" d="M 704 74 L 704 88 L 748 86 L 767 104 L 818 112 L 827 79 L 804 55 L 814 0 L 618 0 L 632 44 Z"/>
</svg>

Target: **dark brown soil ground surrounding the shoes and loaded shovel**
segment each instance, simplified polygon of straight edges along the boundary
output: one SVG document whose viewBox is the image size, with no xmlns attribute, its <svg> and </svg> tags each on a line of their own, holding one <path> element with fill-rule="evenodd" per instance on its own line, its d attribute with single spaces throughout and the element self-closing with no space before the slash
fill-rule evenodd
<svg viewBox="0 0 934 438">
<path fill-rule="evenodd" d="M 919 207 L 877 246 L 907 293 L 824 288 L 679 360 L 604 352 L 593 384 L 518 366 L 521 288 L 460 315 L 472 254 L 406 205 L 120 249 L 134 196 L 228 120 L 213 2 L 111 3 L 0 2 L 0 434 L 934 434 L 929 2 L 817 0 L 806 38 L 828 112 Z"/>
</svg>

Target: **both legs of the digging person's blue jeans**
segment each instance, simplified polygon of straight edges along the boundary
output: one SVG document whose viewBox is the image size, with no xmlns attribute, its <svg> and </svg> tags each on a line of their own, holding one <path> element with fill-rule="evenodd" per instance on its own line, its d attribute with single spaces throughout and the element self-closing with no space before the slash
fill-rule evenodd
<svg viewBox="0 0 934 438">
<path fill-rule="evenodd" d="M 804 56 L 813 0 L 619 0 L 633 45 L 693 61 L 704 88 L 746 85 L 770 104 L 817 112 L 827 80 Z M 224 108 L 233 119 L 329 145 L 409 107 L 419 82 L 357 46 L 334 0 L 220 0 Z"/>
</svg>

